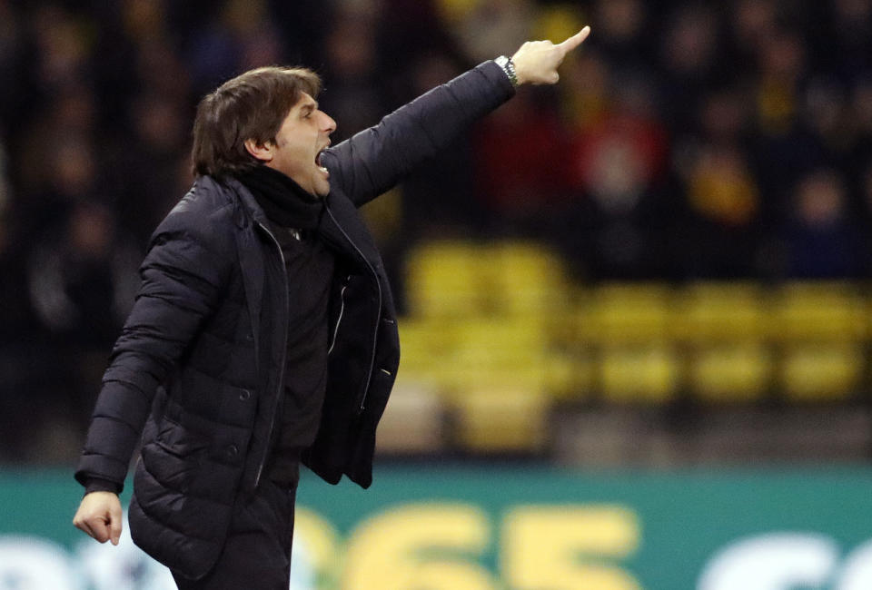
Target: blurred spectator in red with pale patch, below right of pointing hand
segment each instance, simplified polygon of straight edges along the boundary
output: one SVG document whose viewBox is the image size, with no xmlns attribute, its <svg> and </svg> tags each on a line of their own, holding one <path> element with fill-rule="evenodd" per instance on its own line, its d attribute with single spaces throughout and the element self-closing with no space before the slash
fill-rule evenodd
<svg viewBox="0 0 872 590">
<path fill-rule="evenodd" d="M 644 79 L 619 79 L 613 87 L 609 106 L 572 130 L 566 152 L 573 203 L 550 239 L 590 279 L 650 278 L 663 268 L 660 189 L 669 139 Z"/>
</svg>

